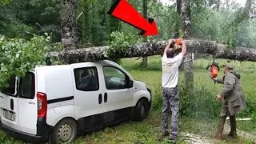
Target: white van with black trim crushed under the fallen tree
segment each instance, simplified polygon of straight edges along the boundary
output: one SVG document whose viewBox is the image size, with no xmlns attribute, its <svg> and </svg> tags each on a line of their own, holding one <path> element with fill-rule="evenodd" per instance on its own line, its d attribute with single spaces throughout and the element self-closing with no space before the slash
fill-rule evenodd
<svg viewBox="0 0 256 144">
<path fill-rule="evenodd" d="M 142 121 L 150 107 L 150 89 L 114 62 L 37 66 L 1 90 L 0 124 L 28 142 L 73 142 L 122 120 Z"/>
</svg>

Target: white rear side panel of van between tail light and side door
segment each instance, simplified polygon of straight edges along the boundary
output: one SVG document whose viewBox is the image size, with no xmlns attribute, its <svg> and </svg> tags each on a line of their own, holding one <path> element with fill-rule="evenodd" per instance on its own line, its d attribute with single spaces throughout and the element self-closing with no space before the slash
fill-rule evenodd
<svg viewBox="0 0 256 144">
<path fill-rule="evenodd" d="M 38 92 L 47 96 L 46 123 L 55 126 L 59 120 L 74 116 L 74 91 L 69 65 L 40 66 Z"/>
</svg>

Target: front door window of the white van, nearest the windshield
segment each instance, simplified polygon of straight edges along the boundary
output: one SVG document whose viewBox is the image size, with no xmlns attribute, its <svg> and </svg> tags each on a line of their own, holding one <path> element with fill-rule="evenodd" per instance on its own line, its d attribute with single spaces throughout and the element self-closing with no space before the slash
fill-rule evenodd
<svg viewBox="0 0 256 144">
<path fill-rule="evenodd" d="M 128 88 L 126 85 L 128 76 L 126 76 L 126 74 L 124 74 L 121 70 L 118 70 L 112 66 L 103 66 L 103 72 L 107 90 L 119 90 Z"/>
</svg>

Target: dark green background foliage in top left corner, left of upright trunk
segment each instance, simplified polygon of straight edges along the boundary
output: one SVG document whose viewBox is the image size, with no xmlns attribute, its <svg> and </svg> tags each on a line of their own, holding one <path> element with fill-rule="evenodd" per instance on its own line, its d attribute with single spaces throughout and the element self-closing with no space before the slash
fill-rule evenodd
<svg viewBox="0 0 256 144">
<path fill-rule="evenodd" d="M 0 34 L 8 38 L 30 39 L 33 34 L 52 33 L 60 42 L 59 0 L 15 0 L 0 5 Z"/>
</svg>

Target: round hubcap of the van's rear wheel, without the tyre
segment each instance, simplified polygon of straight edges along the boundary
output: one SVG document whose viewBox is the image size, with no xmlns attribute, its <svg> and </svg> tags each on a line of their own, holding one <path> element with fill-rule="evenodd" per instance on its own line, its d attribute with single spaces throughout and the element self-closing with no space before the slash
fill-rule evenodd
<svg viewBox="0 0 256 144">
<path fill-rule="evenodd" d="M 58 139 L 68 141 L 72 135 L 72 127 L 69 124 L 63 124 L 58 130 Z"/>
</svg>

